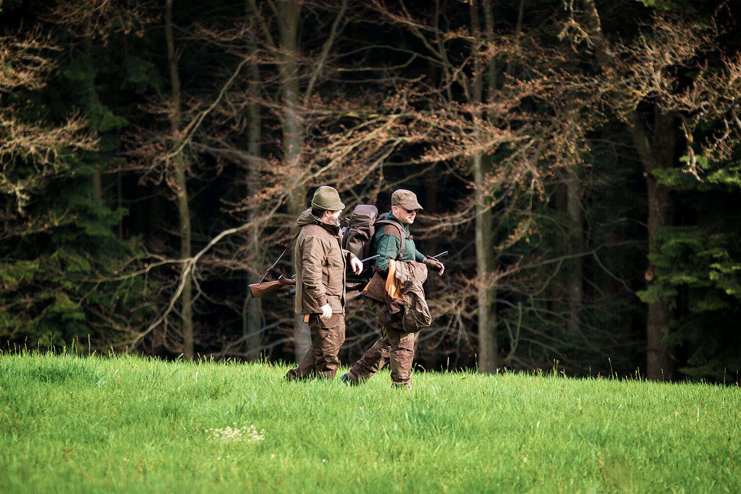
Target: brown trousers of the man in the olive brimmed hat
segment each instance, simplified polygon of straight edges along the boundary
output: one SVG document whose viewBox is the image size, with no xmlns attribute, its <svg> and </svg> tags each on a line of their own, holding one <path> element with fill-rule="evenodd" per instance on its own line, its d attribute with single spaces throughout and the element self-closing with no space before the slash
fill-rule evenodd
<svg viewBox="0 0 741 494">
<path fill-rule="evenodd" d="M 299 367 L 285 375 L 288 381 L 296 379 L 332 379 L 339 367 L 339 348 L 345 342 L 345 314 L 332 314 L 323 320 L 319 314 L 309 316 L 311 348 L 299 362 Z"/>
</svg>

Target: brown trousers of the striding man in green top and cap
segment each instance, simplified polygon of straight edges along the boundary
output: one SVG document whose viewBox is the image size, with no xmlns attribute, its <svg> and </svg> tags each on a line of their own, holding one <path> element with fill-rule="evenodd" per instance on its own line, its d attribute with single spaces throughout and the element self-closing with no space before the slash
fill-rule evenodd
<svg viewBox="0 0 741 494">
<path fill-rule="evenodd" d="M 377 373 L 388 362 L 391 382 L 397 386 L 409 384 L 412 378 L 414 338 L 417 333 L 405 333 L 391 326 L 381 326 L 382 337 L 350 369 L 350 379 L 362 382 Z"/>
</svg>

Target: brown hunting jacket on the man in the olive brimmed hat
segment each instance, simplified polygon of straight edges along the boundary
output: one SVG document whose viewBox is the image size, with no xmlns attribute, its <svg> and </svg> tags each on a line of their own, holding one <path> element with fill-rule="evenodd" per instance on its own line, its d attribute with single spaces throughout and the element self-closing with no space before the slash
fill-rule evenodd
<svg viewBox="0 0 741 494">
<path fill-rule="evenodd" d="M 316 314 L 330 304 L 345 313 L 345 266 L 355 257 L 342 249 L 339 227 L 325 224 L 305 210 L 296 220 L 296 314 Z"/>
</svg>

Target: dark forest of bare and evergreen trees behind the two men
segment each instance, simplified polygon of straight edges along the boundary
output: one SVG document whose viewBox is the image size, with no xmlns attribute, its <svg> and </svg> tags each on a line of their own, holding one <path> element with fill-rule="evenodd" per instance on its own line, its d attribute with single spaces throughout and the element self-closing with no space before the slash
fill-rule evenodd
<svg viewBox="0 0 741 494">
<path fill-rule="evenodd" d="M 247 284 L 329 184 L 450 251 L 423 369 L 737 379 L 738 7 L 0 1 L 2 347 L 300 358 Z"/>
</svg>

